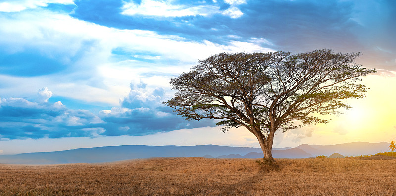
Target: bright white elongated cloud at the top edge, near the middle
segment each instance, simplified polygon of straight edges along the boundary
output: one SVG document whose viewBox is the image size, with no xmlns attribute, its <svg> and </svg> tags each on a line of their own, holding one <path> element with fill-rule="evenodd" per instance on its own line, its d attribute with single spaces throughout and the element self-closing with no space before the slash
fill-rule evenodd
<svg viewBox="0 0 396 196">
<path fill-rule="evenodd" d="M 142 0 L 140 4 L 135 2 L 125 2 L 122 7 L 122 14 L 125 15 L 148 15 L 148 16 L 190 16 L 209 15 L 216 12 L 219 7 L 212 5 L 182 6 L 172 5 L 171 1 Z"/>
</svg>

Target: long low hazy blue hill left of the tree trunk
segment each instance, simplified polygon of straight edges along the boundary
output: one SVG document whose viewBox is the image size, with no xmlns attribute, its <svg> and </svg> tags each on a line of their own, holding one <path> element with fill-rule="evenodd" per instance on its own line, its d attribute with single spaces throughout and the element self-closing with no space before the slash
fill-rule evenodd
<svg viewBox="0 0 396 196">
<path fill-rule="evenodd" d="M 230 147 L 217 145 L 200 146 L 145 146 L 125 145 L 96 148 L 80 148 L 66 151 L 22 153 L 1 155 L 0 163 L 5 164 L 62 164 L 95 163 L 152 157 L 218 157 L 222 155 L 262 152 L 260 148 Z"/>
</svg>

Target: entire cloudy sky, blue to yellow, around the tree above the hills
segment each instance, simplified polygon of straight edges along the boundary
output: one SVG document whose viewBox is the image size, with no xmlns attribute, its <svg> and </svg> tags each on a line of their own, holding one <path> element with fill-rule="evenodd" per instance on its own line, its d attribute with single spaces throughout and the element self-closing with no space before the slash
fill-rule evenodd
<svg viewBox="0 0 396 196">
<path fill-rule="evenodd" d="M 113 145 L 259 147 L 161 102 L 220 52 L 361 52 L 376 68 L 353 108 L 274 148 L 396 140 L 394 0 L 2 0 L 0 155 Z"/>
</svg>

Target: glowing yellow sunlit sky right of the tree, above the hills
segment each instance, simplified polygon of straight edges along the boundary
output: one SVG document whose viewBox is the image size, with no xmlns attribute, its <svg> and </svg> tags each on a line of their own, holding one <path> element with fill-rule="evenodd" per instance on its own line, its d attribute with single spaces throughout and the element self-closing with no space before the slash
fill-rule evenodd
<svg viewBox="0 0 396 196">
<path fill-rule="evenodd" d="M 363 77 L 362 83 L 370 89 L 365 98 L 347 101 L 352 109 L 330 117 L 328 124 L 283 133 L 276 138 L 281 140 L 276 142 L 277 146 L 396 140 L 396 72 L 369 75 Z"/>
</svg>

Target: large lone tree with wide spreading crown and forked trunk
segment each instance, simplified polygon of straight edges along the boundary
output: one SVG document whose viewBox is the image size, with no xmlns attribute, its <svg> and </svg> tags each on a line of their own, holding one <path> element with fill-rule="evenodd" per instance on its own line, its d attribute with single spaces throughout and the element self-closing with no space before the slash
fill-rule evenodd
<svg viewBox="0 0 396 196">
<path fill-rule="evenodd" d="M 356 65 L 359 55 L 328 49 L 212 55 L 170 80 L 177 92 L 164 104 L 187 120 L 218 120 L 222 132 L 245 127 L 274 161 L 275 132 L 326 123 L 315 113 L 341 114 L 337 109 L 351 108 L 343 100 L 364 97 L 357 77 L 376 71 Z"/>
</svg>

